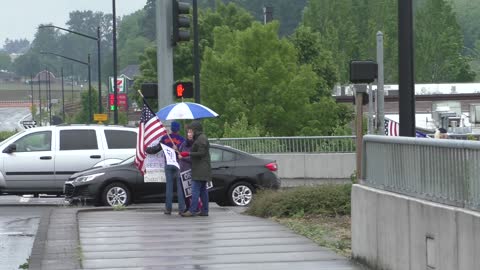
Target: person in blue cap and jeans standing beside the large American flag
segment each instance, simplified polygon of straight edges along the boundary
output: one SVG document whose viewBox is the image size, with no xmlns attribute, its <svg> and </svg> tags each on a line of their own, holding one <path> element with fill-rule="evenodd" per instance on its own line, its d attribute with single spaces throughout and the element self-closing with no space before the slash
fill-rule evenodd
<svg viewBox="0 0 480 270">
<path fill-rule="evenodd" d="M 178 134 L 178 131 L 180 130 L 180 123 L 172 122 L 170 129 L 171 133 L 169 135 L 163 136 L 159 144 L 148 147 L 145 152 L 147 152 L 148 154 L 156 154 L 163 149 L 162 144 L 172 148 L 173 150 L 178 150 L 179 146 L 185 141 L 185 139 L 180 134 Z M 170 153 L 171 151 L 167 152 Z M 165 152 L 165 154 L 167 154 L 167 152 Z M 169 158 L 169 160 L 171 160 L 170 156 Z M 176 162 L 175 154 L 173 154 L 173 159 L 175 159 Z M 165 215 L 172 214 L 174 183 L 177 183 L 178 213 L 181 214 L 185 211 L 185 199 L 183 195 L 183 188 L 180 184 L 179 168 L 175 165 L 171 162 L 167 162 L 165 165 L 165 177 L 167 182 L 165 191 Z"/>
</svg>

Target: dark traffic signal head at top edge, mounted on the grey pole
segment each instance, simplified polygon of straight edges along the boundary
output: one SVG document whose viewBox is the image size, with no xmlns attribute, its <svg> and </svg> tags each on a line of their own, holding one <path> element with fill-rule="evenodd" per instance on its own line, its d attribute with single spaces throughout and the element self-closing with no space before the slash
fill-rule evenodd
<svg viewBox="0 0 480 270">
<path fill-rule="evenodd" d="M 173 3 L 173 33 L 172 45 L 175 46 L 177 42 L 190 40 L 190 4 L 172 0 Z"/>
</svg>

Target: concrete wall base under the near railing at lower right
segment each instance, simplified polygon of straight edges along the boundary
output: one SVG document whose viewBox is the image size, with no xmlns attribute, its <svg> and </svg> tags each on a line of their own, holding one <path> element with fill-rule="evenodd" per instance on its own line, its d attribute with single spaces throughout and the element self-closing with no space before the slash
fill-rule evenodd
<svg viewBox="0 0 480 270">
<path fill-rule="evenodd" d="M 480 269 L 480 213 L 354 185 L 352 255 L 373 269 Z"/>
</svg>

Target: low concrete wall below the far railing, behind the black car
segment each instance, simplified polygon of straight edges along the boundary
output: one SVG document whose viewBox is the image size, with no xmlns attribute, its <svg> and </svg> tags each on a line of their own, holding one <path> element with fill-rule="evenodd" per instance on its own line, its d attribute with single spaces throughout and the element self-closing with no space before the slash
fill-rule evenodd
<svg viewBox="0 0 480 270">
<path fill-rule="evenodd" d="M 355 153 L 288 153 L 255 156 L 276 160 L 280 179 L 350 180 L 350 176 L 355 172 Z"/>
</svg>

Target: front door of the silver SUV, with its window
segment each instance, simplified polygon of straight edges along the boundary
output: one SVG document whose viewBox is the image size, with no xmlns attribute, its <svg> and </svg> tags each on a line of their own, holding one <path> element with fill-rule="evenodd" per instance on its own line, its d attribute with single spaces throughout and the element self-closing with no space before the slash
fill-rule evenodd
<svg viewBox="0 0 480 270">
<path fill-rule="evenodd" d="M 2 153 L 7 191 L 54 190 L 52 141 L 51 131 L 28 133 L 12 142 L 14 152 Z"/>
</svg>

